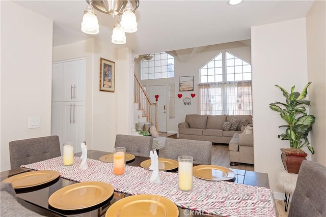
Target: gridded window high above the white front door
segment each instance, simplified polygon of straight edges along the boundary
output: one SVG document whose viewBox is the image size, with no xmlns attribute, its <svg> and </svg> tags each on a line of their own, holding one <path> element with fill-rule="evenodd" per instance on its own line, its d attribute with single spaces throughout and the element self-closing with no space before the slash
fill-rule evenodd
<svg viewBox="0 0 326 217">
<path fill-rule="evenodd" d="M 166 52 L 154 53 L 141 61 L 141 80 L 174 78 L 174 57 Z"/>
</svg>

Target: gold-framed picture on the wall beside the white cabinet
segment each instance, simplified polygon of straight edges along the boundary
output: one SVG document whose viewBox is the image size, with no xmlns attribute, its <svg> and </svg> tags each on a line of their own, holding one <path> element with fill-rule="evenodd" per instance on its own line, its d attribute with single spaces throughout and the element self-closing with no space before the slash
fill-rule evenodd
<svg viewBox="0 0 326 217">
<path fill-rule="evenodd" d="M 100 58 L 100 91 L 114 92 L 116 63 Z"/>
</svg>

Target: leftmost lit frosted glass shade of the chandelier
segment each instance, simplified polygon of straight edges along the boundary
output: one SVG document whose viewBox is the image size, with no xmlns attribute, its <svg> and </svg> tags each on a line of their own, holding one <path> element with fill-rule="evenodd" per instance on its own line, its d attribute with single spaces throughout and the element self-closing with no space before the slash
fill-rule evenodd
<svg viewBox="0 0 326 217">
<path fill-rule="evenodd" d="M 94 9 L 91 5 L 88 5 L 84 11 L 84 17 L 82 22 L 82 31 L 86 34 L 96 35 L 99 33 L 99 25 Z"/>
</svg>

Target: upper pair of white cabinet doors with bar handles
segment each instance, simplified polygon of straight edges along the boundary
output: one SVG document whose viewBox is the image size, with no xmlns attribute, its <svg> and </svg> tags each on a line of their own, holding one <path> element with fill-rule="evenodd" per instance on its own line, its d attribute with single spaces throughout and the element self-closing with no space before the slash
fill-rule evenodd
<svg viewBox="0 0 326 217">
<path fill-rule="evenodd" d="M 86 100 L 86 59 L 52 65 L 52 102 Z"/>
</svg>

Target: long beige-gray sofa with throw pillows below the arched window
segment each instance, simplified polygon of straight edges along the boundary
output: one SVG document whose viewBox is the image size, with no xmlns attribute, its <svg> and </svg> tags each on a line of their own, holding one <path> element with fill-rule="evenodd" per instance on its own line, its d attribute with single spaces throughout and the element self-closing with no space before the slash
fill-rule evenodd
<svg viewBox="0 0 326 217">
<path fill-rule="evenodd" d="M 227 130 L 230 122 L 240 119 L 236 129 Z M 252 115 L 206 115 L 187 114 L 179 123 L 179 139 L 229 143 L 235 133 L 241 133 L 247 125 L 252 125 Z M 236 125 L 236 123 L 235 123 Z M 235 127 L 235 125 L 233 127 Z"/>
</svg>

